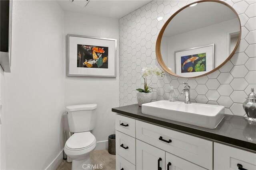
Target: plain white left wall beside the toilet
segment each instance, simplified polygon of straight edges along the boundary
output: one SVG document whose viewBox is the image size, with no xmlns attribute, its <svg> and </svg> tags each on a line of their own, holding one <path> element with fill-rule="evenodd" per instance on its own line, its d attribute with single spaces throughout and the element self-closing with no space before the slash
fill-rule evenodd
<svg viewBox="0 0 256 170">
<path fill-rule="evenodd" d="M 1 74 L 1 169 L 45 169 L 62 154 L 63 11 L 13 1 L 12 72 Z"/>
</svg>

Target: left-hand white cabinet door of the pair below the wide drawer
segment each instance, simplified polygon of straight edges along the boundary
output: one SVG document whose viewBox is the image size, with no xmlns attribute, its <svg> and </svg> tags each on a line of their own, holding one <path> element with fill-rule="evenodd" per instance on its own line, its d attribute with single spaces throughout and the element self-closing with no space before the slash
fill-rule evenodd
<svg viewBox="0 0 256 170">
<path fill-rule="evenodd" d="M 136 170 L 165 170 L 165 151 L 136 140 Z"/>
</svg>

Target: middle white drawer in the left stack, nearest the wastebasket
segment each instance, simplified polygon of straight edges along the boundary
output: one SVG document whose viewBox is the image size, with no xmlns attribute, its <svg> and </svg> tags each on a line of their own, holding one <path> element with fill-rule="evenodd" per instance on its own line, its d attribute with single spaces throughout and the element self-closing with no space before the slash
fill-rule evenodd
<svg viewBox="0 0 256 170">
<path fill-rule="evenodd" d="M 135 165 L 135 138 L 116 131 L 116 153 Z"/>
</svg>

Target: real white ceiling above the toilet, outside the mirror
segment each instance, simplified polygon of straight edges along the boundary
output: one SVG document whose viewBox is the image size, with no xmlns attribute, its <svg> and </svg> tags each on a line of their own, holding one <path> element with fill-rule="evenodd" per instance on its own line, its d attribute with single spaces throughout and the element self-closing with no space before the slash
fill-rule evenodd
<svg viewBox="0 0 256 170">
<path fill-rule="evenodd" d="M 117 19 L 130 14 L 132 11 L 137 10 L 151 1 L 152 0 L 90 0 L 84 8 L 70 2 L 70 0 L 57 0 L 62 10 L 67 12 Z"/>
</svg>

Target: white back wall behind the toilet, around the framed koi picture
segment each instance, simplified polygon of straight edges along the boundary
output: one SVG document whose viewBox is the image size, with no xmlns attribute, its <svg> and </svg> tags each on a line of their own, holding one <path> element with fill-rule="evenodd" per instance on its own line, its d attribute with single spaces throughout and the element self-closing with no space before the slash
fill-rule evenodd
<svg viewBox="0 0 256 170">
<path fill-rule="evenodd" d="M 117 39 L 118 19 L 64 12 L 64 51 L 66 57 L 66 35 L 86 35 Z M 117 45 L 116 77 L 68 77 L 65 79 L 65 105 L 96 103 L 97 124 L 93 135 L 96 149 L 106 148 L 108 135 L 115 133 L 115 119 L 111 108 L 119 106 L 119 55 Z"/>
</svg>

